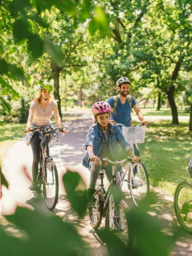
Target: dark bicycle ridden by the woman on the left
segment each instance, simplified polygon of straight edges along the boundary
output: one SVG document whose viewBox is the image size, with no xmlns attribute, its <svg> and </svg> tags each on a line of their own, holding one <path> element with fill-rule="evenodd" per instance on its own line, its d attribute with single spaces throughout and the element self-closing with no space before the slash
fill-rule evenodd
<svg viewBox="0 0 192 256">
<path fill-rule="evenodd" d="M 55 128 L 52 131 L 44 131 L 41 127 L 32 128 L 30 131 L 41 130 L 45 135 L 45 151 L 41 152 L 40 146 L 40 162 L 37 175 L 37 188 L 41 191 L 43 184 L 43 196 L 46 206 L 49 210 L 55 208 L 58 201 L 58 172 L 53 158 L 49 155 L 48 136 L 53 134 L 56 130 L 63 131 L 63 128 Z"/>
</svg>

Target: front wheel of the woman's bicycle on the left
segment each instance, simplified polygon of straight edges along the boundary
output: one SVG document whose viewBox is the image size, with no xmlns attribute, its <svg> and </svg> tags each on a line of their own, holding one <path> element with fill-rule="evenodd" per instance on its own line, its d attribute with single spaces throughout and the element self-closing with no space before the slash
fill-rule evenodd
<svg viewBox="0 0 192 256">
<path fill-rule="evenodd" d="M 46 160 L 45 160 L 46 161 Z M 43 193 L 49 210 L 55 208 L 58 201 L 58 173 L 53 160 L 46 161 L 44 166 Z"/>
</svg>

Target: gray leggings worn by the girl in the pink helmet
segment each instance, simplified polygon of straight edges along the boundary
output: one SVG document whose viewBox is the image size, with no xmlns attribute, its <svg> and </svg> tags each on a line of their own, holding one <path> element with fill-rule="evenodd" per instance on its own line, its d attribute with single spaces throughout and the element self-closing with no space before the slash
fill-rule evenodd
<svg viewBox="0 0 192 256">
<path fill-rule="evenodd" d="M 89 188 L 94 188 L 96 186 L 96 182 L 99 176 L 99 172 L 103 168 L 106 172 L 106 176 L 109 182 L 111 182 L 112 179 L 112 166 L 104 166 L 102 164 L 96 164 L 95 162 L 91 162 L 91 177 L 90 177 L 90 184 Z M 119 183 L 119 172 L 116 173 L 116 184 Z M 119 186 L 121 188 L 121 186 Z"/>
</svg>

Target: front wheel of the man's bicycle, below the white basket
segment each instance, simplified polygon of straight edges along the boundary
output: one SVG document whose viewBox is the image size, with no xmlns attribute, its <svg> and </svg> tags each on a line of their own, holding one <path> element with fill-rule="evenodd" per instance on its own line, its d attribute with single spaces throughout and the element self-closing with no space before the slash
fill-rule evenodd
<svg viewBox="0 0 192 256">
<path fill-rule="evenodd" d="M 145 165 L 142 162 L 133 164 L 133 172 L 131 172 L 130 165 L 128 188 L 130 189 L 134 205 L 139 206 L 140 201 L 149 193 L 149 177 Z"/>
</svg>

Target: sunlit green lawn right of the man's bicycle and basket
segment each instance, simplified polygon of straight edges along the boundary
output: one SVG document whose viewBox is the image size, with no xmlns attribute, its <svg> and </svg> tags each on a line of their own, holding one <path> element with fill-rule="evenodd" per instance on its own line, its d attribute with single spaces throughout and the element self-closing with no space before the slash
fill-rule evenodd
<svg viewBox="0 0 192 256">
<path fill-rule="evenodd" d="M 192 154 L 188 124 L 170 121 L 149 123 L 145 143 L 139 144 L 150 184 L 173 196 L 178 182 L 190 180 L 187 164 Z"/>
</svg>

